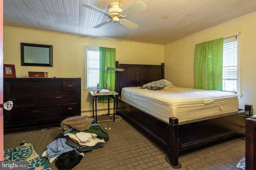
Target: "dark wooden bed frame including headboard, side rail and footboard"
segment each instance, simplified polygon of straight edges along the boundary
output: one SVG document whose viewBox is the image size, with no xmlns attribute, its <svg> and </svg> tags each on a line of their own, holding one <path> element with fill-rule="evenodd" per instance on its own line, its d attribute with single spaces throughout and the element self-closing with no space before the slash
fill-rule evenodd
<svg viewBox="0 0 256 170">
<path fill-rule="evenodd" d="M 119 95 L 123 87 L 143 86 L 148 82 L 164 79 L 164 63 L 161 65 L 142 65 L 119 64 L 116 61 L 116 68 L 124 69 L 123 72 L 116 72 L 116 92 Z M 181 168 L 181 164 L 178 162 L 181 151 L 244 134 L 246 117 L 243 116 L 251 116 L 250 110 L 239 109 L 239 111 L 218 117 L 182 123 L 179 123 L 176 117 L 170 117 L 169 123 L 166 123 L 139 108 L 130 106 L 122 101 L 120 96 L 117 107 L 117 113 L 132 121 L 168 150 L 169 155 L 166 155 L 165 159 L 173 168 Z"/>
</svg>

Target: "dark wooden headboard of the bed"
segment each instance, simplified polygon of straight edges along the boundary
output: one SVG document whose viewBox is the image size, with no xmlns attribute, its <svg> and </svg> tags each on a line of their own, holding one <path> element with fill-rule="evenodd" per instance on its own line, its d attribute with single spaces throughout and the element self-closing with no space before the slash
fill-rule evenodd
<svg viewBox="0 0 256 170">
<path fill-rule="evenodd" d="M 120 94 L 123 87 L 138 87 L 149 82 L 164 79 L 164 63 L 161 65 L 119 64 L 116 68 L 124 71 L 116 72 L 116 92 Z"/>
</svg>

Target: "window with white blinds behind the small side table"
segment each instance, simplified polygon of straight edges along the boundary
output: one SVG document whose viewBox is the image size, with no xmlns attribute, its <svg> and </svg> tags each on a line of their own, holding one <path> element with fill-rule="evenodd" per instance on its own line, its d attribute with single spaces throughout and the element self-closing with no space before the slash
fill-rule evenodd
<svg viewBox="0 0 256 170">
<path fill-rule="evenodd" d="M 85 88 L 92 89 L 97 87 L 100 80 L 100 52 L 98 47 L 85 47 L 86 51 L 86 78 Z"/>
</svg>

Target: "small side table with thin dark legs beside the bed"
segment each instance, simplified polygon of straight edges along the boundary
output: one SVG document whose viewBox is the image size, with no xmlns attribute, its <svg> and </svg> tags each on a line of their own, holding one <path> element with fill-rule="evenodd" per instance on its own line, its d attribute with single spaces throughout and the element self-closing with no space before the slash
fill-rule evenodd
<svg viewBox="0 0 256 170">
<path fill-rule="evenodd" d="M 113 121 L 115 121 L 115 109 L 116 109 L 116 95 L 118 93 L 99 93 L 99 94 L 93 94 L 93 91 L 90 91 L 90 94 L 92 95 L 92 116 L 94 117 L 94 99 L 95 99 L 95 121 L 97 123 L 97 98 L 98 96 L 108 96 L 108 115 L 109 115 L 109 101 L 110 98 L 114 99 L 114 118 Z"/>
</svg>

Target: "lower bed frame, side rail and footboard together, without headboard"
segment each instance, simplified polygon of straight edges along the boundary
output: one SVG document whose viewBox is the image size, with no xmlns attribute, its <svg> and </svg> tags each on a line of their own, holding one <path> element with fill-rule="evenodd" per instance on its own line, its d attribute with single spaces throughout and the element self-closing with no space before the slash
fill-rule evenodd
<svg viewBox="0 0 256 170">
<path fill-rule="evenodd" d="M 220 117 L 197 119 L 180 124 L 176 117 L 170 117 L 169 123 L 166 123 L 122 100 L 118 100 L 117 112 L 166 148 L 169 154 L 165 159 L 173 168 L 182 167 L 178 162 L 181 151 L 245 134 L 246 117 L 244 116 L 251 116 L 250 110 L 240 110 Z"/>
</svg>

